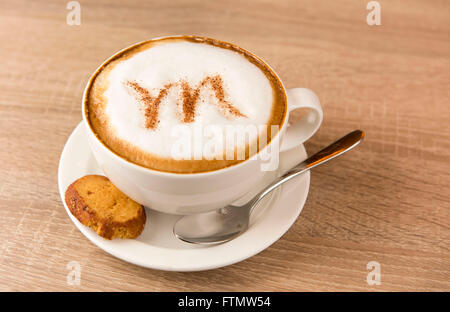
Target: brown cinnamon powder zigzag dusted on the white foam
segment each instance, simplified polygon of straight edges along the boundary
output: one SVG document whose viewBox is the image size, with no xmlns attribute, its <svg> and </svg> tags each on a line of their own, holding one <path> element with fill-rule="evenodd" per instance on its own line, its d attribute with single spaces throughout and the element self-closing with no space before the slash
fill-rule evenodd
<svg viewBox="0 0 450 312">
<path fill-rule="evenodd" d="M 175 86 L 181 87 L 181 100 L 183 103 L 183 116 L 181 117 L 182 122 L 190 123 L 195 121 L 200 91 L 202 88 L 207 86 L 209 86 L 209 88 L 214 92 L 214 96 L 218 100 L 218 109 L 223 115 L 225 115 L 225 117 L 247 117 L 242 114 L 239 109 L 235 108 L 230 102 L 227 101 L 225 89 L 223 87 L 223 80 L 219 75 L 205 77 L 195 89 L 193 89 L 189 83 L 184 80 L 180 80 L 177 83 L 168 83 L 164 86 L 164 88 L 159 90 L 156 97 L 153 97 L 146 88 L 143 88 L 136 81 L 127 81 L 125 84 L 135 91 L 137 99 L 144 104 L 145 127 L 147 129 L 155 129 L 158 126 L 160 104 L 164 97 L 166 97 L 169 93 L 169 90 Z"/>
</svg>

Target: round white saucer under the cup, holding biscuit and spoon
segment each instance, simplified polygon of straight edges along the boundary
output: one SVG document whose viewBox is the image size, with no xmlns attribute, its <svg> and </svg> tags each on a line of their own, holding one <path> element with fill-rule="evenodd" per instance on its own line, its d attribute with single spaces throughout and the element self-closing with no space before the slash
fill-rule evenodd
<svg viewBox="0 0 450 312">
<path fill-rule="evenodd" d="M 281 170 L 293 167 L 306 158 L 303 146 L 281 157 Z M 61 154 L 58 186 L 62 202 L 72 222 L 92 243 L 111 255 L 147 268 L 166 271 L 201 271 L 227 266 L 256 255 L 276 242 L 295 222 L 309 190 L 310 174 L 306 172 L 279 188 L 271 198 L 261 203 L 252 217 L 250 228 L 224 244 L 193 245 L 182 242 L 172 233 L 180 216 L 163 214 L 146 208 L 147 224 L 135 240 L 105 240 L 82 225 L 67 208 L 66 188 L 87 174 L 102 174 L 80 123 L 70 135 Z M 279 173 L 278 173 L 279 174 Z M 270 181 L 262 181 L 261 184 Z M 255 193 L 262 185 L 255 187 Z"/>
</svg>

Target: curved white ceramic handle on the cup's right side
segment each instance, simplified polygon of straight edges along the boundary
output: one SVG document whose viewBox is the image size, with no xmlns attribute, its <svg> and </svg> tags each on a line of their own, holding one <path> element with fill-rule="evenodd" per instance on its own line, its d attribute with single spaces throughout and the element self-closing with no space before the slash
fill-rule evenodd
<svg viewBox="0 0 450 312">
<path fill-rule="evenodd" d="M 314 92 L 306 88 L 293 88 L 288 89 L 286 93 L 289 113 L 298 108 L 310 108 L 310 111 L 296 123 L 288 123 L 281 142 L 281 152 L 288 151 L 308 140 L 319 129 L 323 119 L 322 107 Z"/>
</svg>

